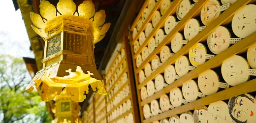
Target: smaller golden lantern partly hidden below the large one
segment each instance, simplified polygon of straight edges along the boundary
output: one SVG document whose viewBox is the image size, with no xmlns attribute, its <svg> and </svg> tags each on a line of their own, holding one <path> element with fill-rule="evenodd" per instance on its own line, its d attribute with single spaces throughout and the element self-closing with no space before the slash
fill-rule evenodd
<svg viewBox="0 0 256 123">
<path fill-rule="evenodd" d="M 65 89 L 56 96 L 55 100 L 56 113 L 52 123 L 82 123 L 78 116 L 81 107 L 78 102 L 71 100 L 71 96 L 66 94 Z"/>
</svg>

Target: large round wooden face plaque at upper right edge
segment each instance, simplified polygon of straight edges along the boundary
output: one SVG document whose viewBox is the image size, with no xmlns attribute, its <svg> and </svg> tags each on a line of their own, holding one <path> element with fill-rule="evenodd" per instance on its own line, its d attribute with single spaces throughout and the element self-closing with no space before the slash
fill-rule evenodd
<svg viewBox="0 0 256 123">
<path fill-rule="evenodd" d="M 234 15 L 232 20 L 232 30 L 235 35 L 240 38 L 245 38 L 256 31 L 256 5 L 249 4 Z"/>
</svg>

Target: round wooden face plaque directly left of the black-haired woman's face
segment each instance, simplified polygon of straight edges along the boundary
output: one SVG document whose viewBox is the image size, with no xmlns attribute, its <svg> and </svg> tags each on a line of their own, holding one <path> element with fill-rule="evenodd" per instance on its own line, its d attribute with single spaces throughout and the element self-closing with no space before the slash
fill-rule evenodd
<svg viewBox="0 0 256 123">
<path fill-rule="evenodd" d="M 208 106 L 208 113 L 212 115 L 210 118 L 213 123 L 225 123 L 225 121 L 232 123 L 228 114 L 228 106 L 224 101 L 211 103 Z"/>
</svg>

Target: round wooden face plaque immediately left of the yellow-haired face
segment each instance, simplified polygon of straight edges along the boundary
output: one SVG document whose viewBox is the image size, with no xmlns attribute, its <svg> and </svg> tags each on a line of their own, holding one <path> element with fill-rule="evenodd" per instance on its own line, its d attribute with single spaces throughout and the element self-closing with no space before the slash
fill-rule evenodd
<svg viewBox="0 0 256 123">
<path fill-rule="evenodd" d="M 175 70 L 179 76 L 184 76 L 189 72 L 189 67 L 190 63 L 189 60 L 186 56 L 181 56 L 180 59 L 178 59 L 175 62 Z"/>
</svg>

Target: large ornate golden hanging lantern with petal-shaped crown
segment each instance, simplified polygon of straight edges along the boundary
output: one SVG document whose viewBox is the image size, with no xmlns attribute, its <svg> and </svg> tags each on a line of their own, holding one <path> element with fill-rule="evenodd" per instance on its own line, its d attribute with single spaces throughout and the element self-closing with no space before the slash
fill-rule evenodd
<svg viewBox="0 0 256 123">
<path fill-rule="evenodd" d="M 110 23 L 104 24 L 105 11 L 95 13 L 92 0 L 83 1 L 77 8 L 72 0 L 60 0 L 57 10 L 42 0 L 39 7 L 42 17 L 34 12 L 30 15 L 33 30 L 45 41 L 43 69 L 26 91 L 31 92 L 35 85 L 42 100 L 49 101 L 65 88 L 72 100 L 82 102 L 90 84 L 94 91 L 97 88 L 99 94 L 106 94 L 94 57 L 94 44 L 110 27 Z"/>
</svg>

